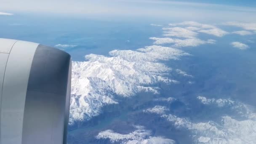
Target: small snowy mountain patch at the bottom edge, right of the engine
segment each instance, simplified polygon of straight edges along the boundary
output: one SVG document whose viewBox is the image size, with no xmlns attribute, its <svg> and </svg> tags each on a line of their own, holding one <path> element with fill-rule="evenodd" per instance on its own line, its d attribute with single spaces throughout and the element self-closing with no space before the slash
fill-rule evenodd
<svg viewBox="0 0 256 144">
<path fill-rule="evenodd" d="M 112 143 L 120 144 L 175 144 L 172 139 L 152 137 L 152 132 L 145 130 L 143 126 L 135 125 L 135 131 L 128 134 L 115 133 L 112 130 L 100 132 L 96 139 L 109 139 Z"/>
</svg>

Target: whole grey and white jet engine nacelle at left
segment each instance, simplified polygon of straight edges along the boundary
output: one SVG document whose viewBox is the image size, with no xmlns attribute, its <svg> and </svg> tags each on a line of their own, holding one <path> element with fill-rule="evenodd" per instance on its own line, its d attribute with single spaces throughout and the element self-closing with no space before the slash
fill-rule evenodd
<svg viewBox="0 0 256 144">
<path fill-rule="evenodd" d="M 70 85 L 68 53 L 0 39 L 0 144 L 66 144 Z"/>
</svg>

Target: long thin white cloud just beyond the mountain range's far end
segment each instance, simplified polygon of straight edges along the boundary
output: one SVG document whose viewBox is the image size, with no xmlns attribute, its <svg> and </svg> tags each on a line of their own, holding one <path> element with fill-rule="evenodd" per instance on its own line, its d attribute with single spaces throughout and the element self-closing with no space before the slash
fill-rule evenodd
<svg viewBox="0 0 256 144">
<path fill-rule="evenodd" d="M 154 44 L 157 44 L 157 45 L 173 43 L 173 46 L 175 47 L 188 47 L 188 46 L 195 47 L 195 46 L 206 44 L 206 43 L 209 43 L 209 44 L 215 43 L 215 40 L 210 39 L 210 40 L 204 41 L 197 38 L 181 40 L 181 39 L 173 39 L 169 37 L 164 37 L 164 38 L 150 37 L 149 39 L 155 40 Z"/>
</svg>

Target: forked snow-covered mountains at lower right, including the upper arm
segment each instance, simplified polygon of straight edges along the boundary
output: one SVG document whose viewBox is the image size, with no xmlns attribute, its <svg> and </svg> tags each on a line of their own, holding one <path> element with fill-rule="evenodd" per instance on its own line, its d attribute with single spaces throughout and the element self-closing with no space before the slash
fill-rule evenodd
<svg viewBox="0 0 256 144">
<path fill-rule="evenodd" d="M 243 120 L 236 120 L 232 116 L 221 116 L 219 121 L 207 121 L 195 123 L 187 117 L 178 117 L 163 109 L 163 106 L 155 106 L 145 112 L 155 113 L 173 123 L 180 130 L 188 130 L 196 144 L 255 144 L 256 143 L 256 113 L 251 106 L 231 99 L 207 99 L 198 96 L 202 104 L 221 107 L 226 111 L 235 111 Z M 157 109 L 157 110 L 156 110 Z M 160 112 L 159 112 L 160 111 Z M 168 114 L 169 113 L 169 114 Z"/>
</svg>

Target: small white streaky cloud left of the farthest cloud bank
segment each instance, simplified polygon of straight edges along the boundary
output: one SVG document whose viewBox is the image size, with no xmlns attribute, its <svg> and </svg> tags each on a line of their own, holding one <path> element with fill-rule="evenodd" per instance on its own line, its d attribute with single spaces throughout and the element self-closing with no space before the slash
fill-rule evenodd
<svg viewBox="0 0 256 144">
<path fill-rule="evenodd" d="M 163 28 L 163 30 L 166 30 L 166 34 L 164 34 L 166 37 L 195 38 L 198 34 L 197 32 L 193 32 L 181 27 Z"/>
</svg>

